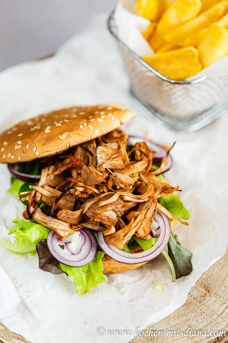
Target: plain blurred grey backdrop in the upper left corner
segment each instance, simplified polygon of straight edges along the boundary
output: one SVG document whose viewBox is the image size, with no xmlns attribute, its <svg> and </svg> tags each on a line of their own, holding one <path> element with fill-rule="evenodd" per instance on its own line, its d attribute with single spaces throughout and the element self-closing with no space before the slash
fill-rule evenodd
<svg viewBox="0 0 228 343">
<path fill-rule="evenodd" d="M 53 54 L 117 0 L 0 0 L 0 71 Z"/>
</svg>

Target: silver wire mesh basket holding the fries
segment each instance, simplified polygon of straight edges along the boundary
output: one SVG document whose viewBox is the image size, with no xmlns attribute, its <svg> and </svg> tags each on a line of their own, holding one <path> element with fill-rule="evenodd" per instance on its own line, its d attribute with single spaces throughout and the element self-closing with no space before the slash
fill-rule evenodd
<svg viewBox="0 0 228 343">
<path fill-rule="evenodd" d="M 108 28 L 120 49 L 136 105 L 148 118 L 171 129 L 194 131 L 228 109 L 228 76 L 171 80 L 119 39 L 115 11 L 109 16 Z"/>
</svg>

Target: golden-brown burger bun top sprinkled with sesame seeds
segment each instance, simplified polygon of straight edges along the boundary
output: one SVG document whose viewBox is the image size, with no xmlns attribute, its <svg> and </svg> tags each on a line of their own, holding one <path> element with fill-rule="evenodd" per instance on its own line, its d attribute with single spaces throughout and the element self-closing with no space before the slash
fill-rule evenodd
<svg viewBox="0 0 228 343">
<path fill-rule="evenodd" d="M 0 135 L 0 163 L 32 161 L 61 153 L 108 133 L 135 117 L 119 105 L 71 107 L 42 114 Z"/>
</svg>

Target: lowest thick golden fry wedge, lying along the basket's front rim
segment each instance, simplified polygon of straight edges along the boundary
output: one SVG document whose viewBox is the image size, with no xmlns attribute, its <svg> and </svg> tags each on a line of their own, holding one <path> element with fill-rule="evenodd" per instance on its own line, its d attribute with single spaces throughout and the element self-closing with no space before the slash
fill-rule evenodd
<svg viewBox="0 0 228 343">
<path fill-rule="evenodd" d="M 198 51 L 194 47 L 181 48 L 142 58 L 170 79 L 185 80 L 201 70 Z"/>
</svg>

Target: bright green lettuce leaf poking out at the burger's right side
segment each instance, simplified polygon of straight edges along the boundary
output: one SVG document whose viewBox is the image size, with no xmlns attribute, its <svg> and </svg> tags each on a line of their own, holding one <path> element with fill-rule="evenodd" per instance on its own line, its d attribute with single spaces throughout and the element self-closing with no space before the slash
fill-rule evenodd
<svg viewBox="0 0 228 343">
<path fill-rule="evenodd" d="M 189 212 L 182 204 L 180 197 L 173 194 L 167 194 L 164 198 L 157 199 L 160 204 L 177 218 L 189 219 Z"/>
</svg>

